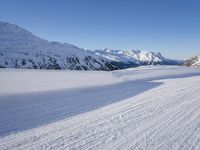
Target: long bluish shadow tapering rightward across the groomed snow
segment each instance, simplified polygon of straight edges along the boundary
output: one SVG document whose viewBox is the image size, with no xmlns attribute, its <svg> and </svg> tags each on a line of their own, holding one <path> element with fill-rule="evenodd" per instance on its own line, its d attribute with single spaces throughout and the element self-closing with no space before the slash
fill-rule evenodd
<svg viewBox="0 0 200 150">
<path fill-rule="evenodd" d="M 197 74 L 163 76 L 155 79 L 183 78 L 194 75 Z M 154 78 L 99 87 L 0 97 L 0 136 L 92 111 L 162 84 L 162 82 L 151 82 L 152 80 Z"/>
</svg>

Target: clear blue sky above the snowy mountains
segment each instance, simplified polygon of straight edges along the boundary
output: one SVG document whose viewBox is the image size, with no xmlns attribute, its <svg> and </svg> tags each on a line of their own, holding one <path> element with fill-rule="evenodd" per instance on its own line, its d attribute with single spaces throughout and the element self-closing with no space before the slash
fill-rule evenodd
<svg viewBox="0 0 200 150">
<path fill-rule="evenodd" d="M 200 0 L 0 0 L 0 21 L 81 48 L 200 54 Z"/>
</svg>

